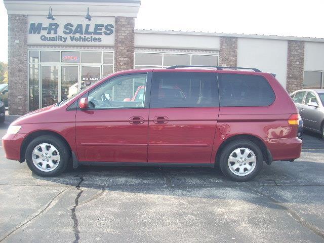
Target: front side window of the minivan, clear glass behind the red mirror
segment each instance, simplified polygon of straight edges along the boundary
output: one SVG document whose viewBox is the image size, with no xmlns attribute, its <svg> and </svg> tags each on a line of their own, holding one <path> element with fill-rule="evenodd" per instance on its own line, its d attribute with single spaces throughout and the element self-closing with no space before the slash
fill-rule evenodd
<svg viewBox="0 0 324 243">
<path fill-rule="evenodd" d="M 89 92 L 92 109 L 122 109 L 144 107 L 147 74 L 118 76 Z"/>
</svg>

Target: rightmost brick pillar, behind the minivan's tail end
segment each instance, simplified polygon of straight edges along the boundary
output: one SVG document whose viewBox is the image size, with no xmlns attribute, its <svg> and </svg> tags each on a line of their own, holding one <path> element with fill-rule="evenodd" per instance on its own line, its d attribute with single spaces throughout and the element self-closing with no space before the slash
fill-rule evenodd
<svg viewBox="0 0 324 243">
<path fill-rule="evenodd" d="M 288 41 L 287 85 L 289 93 L 303 88 L 304 42 Z"/>
</svg>

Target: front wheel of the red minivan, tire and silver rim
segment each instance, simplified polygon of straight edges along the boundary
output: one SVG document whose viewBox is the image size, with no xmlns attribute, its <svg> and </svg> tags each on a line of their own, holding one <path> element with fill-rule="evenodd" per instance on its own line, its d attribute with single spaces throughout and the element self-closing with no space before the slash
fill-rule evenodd
<svg viewBox="0 0 324 243">
<path fill-rule="evenodd" d="M 52 177 L 65 171 L 70 153 L 66 144 L 55 136 L 33 139 L 26 148 L 29 169 L 38 176 Z"/>
</svg>

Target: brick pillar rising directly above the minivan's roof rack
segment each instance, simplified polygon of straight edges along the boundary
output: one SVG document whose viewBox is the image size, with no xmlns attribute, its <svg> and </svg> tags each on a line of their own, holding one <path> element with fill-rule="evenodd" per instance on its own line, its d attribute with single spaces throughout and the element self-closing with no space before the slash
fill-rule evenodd
<svg viewBox="0 0 324 243">
<path fill-rule="evenodd" d="M 220 66 L 237 66 L 237 37 L 220 37 Z"/>
</svg>

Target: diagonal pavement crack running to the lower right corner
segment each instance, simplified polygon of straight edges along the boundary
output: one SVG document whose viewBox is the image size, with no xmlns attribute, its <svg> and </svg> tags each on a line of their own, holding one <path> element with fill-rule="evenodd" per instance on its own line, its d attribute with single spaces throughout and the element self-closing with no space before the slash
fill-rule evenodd
<svg viewBox="0 0 324 243">
<path fill-rule="evenodd" d="M 302 226 L 306 227 L 309 231 L 313 232 L 314 234 L 322 237 L 324 239 L 324 232 L 320 231 L 318 228 L 316 228 L 314 225 L 308 223 L 305 221 L 301 216 L 299 216 L 297 213 L 295 213 L 292 209 L 288 208 L 284 204 L 280 203 L 277 199 L 273 198 L 272 196 L 264 193 L 264 192 L 259 192 L 257 190 L 254 190 L 252 188 L 246 187 L 246 189 L 254 192 L 255 194 L 258 194 L 260 196 L 266 197 L 272 203 L 275 205 L 279 206 L 281 209 L 285 210 L 293 219 L 295 219 L 298 223 L 300 223 Z"/>
</svg>

